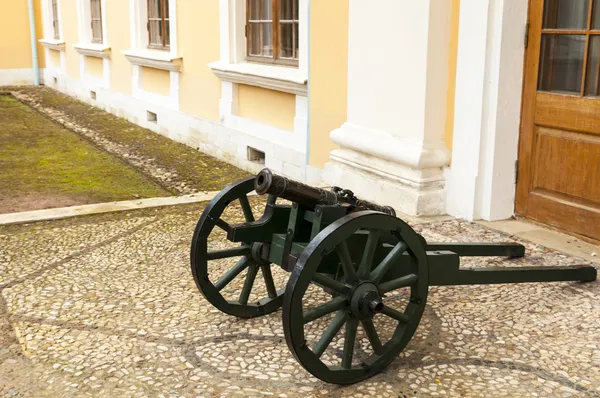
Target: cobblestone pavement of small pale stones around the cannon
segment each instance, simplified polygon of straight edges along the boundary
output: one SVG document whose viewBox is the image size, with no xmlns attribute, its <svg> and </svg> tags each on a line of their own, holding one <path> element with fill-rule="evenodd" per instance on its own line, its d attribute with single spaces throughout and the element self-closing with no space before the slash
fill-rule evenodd
<svg viewBox="0 0 600 398">
<path fill-rule="evenodd" d="M 189 247 L 201 211 L 0 228 L 0 394 L 600 396 L 600 282 L 431 288 L 416 335 L 384 373 L 324 384 L 288 351 L 281 311 L 241 320 L 200 295 Z M 509 239 L 456 220 L 415 228 L 435 241 Z M 464 264 L 580 262 L 524 243 L 524 259 Z"/>
</svg>

